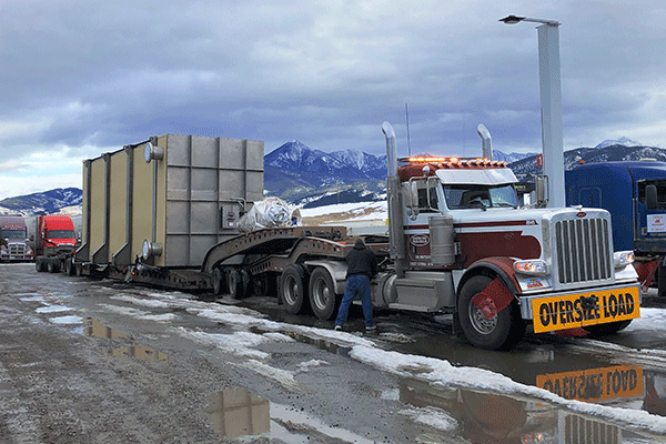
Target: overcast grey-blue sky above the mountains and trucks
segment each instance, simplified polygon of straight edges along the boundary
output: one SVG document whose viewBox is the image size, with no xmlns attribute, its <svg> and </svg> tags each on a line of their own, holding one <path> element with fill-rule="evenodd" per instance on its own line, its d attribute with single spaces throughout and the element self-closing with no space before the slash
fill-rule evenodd
<svg viewBox="0 0 666 444">
<path fill-rule="evenodd" d="M 666 145 L 666 3 L 0 0 L 0 200 L 165 133 L 383 154 L 541 150 L 536 23 L 562 22 L 564 149 Z"/>
</svg>

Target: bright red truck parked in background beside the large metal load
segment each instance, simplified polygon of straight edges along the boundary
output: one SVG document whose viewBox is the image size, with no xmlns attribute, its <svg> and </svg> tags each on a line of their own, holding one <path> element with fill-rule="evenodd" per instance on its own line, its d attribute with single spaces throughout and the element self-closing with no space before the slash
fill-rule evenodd
<svg viewBox="0 0 666 444">
<path fill-rule="evenodd" d="M 72 270 L 68 261 L 77 250 L 78 240 L 74 223 L 69 215 L 48 214 L 28 219 L 28 232 L 34 243 L 34 268 L 38 272 L 68 274 Z"/>
</svg>

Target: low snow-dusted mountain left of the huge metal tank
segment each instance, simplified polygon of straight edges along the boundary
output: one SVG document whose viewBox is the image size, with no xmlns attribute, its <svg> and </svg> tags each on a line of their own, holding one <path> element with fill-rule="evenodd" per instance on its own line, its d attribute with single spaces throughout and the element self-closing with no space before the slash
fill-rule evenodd
<svg viewBox="0 0 666 444">
<path fill-rule="evenodd" d="M 7 198 L 0 201 L 0 208 L 23 215 L 53 214 L 65 206 L 81 205 L 82 192 L 78 188 L 58 188 L 41 193 Z"/>
</svg>

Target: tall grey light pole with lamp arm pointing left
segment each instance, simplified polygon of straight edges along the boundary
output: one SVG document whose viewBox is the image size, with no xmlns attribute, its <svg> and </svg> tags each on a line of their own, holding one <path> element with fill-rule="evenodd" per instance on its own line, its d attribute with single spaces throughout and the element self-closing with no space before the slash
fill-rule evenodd
<svg viewBox="0 0 666 444">
<path fill-rule="evenodd" d="M 544 174 L 548 176 L 548 205 L 565 206 L 564 145 L 562 140 L 562 83 L 559 81 L 559 22 L 508 16 L 506 24 L 522 21 L 542 23 L 538 32 L 538 77 L 541 90 Z"/>
</svg>

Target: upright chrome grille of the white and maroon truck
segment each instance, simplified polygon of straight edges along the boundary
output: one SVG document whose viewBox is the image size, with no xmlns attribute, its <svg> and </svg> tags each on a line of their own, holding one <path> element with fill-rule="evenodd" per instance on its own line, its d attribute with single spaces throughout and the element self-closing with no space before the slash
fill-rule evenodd
<svg viewBox="0 0 666 444">
<path fill-rule="evenodd" d="M 608 221 L 576 219 L 555 224 L 559 283 L 612 278 Z"/>
</svg>

